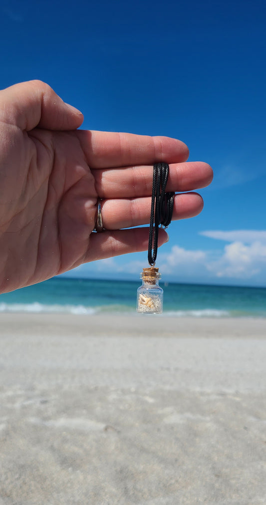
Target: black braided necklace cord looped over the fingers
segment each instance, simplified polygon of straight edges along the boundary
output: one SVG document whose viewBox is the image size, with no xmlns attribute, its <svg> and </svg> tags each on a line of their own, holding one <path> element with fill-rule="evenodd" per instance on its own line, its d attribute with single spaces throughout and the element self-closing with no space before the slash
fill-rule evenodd
<svg viewBox="0 0 266 505">
<path fill-rule="evenodd" d="M 159 225 L 167 228 L 173 215 L 175 193 L 165 192 L 168 174 L 167 163 L 154 163 L 148 242 L 148 262 L 151 267 L 154 267 L 157 257 Z"/>
</svg>

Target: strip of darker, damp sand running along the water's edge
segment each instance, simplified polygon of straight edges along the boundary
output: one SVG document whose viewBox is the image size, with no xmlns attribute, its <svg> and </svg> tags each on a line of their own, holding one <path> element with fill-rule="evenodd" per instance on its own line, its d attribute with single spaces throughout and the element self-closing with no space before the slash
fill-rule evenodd
<svg viewBox="0 0 266 505">
<path fill-rule="evenodd" d="M 266 338 L 266 318 L 174 317 L 145 314 L 0 314 L 0 335 L 65 334 L 213 338 Z"/>
</svg>

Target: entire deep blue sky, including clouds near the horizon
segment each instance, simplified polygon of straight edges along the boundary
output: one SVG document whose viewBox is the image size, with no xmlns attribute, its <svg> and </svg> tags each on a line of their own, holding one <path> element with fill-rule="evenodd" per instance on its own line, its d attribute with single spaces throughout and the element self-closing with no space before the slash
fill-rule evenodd
<svg viewBox="0 0 266 505">
<path fill-rule="evenodd" d="M 215 177 L 176 221 L 165 280 L 266 286 L 264 1 L 2 0 L 0 87 L 42 79 L 82 128 L 180 138 Z M 136 279 L 147 255 L 72 275 Z"/>
</svg>

